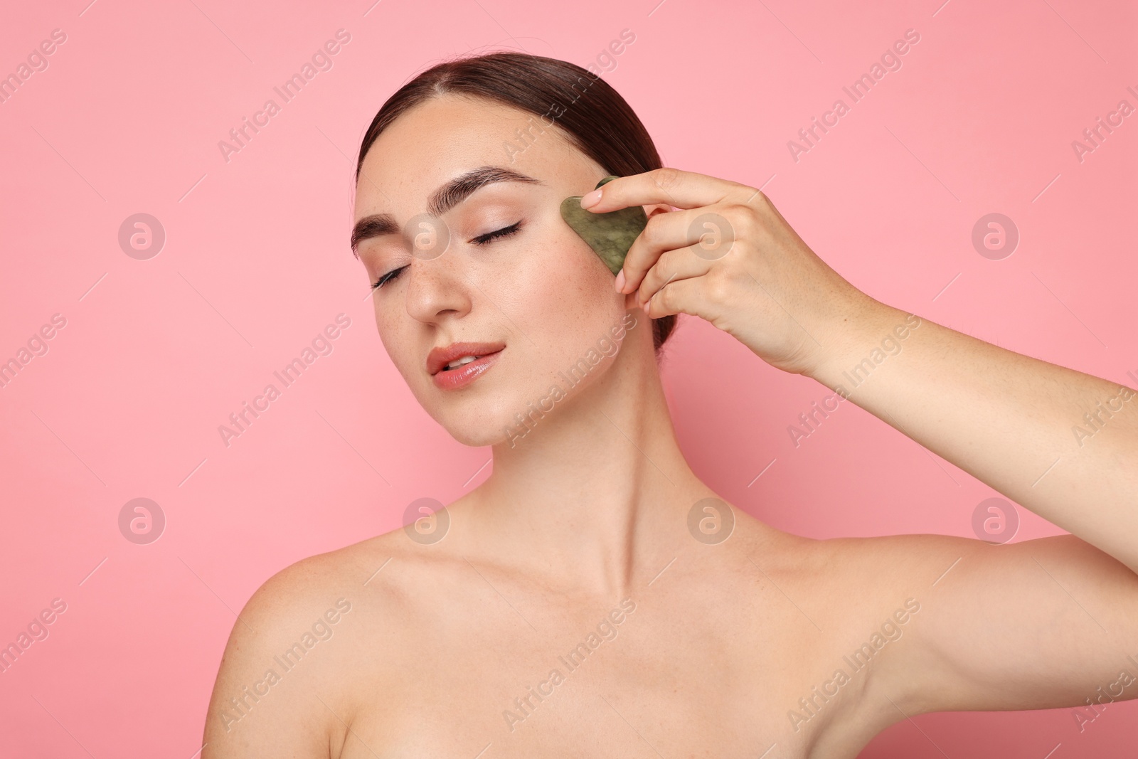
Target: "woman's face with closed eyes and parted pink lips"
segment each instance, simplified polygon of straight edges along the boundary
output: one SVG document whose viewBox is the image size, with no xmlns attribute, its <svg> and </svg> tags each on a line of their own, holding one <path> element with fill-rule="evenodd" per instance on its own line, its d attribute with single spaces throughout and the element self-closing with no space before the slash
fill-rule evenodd
<svg viewBox="0 0 1138 759">
<path fill-rule="evenodd" d="M 472 192 L 452 191 L 457 203 L 440 201 L 440 188 L 480 167 L 534 181 L 471 182 Z M 591 349 L 613 354 L 612 329 L 624 327 L 625 296 L 612 273 L 560 214 L 562 199 L 585 195 L 605 173 L 539 117 L 455 96 L 403 114 L 364 157 L 357 232 L 373 215 L 394 222 L 371 220 L 356 247 L 369 284 L 382 280 L 372 291 L 380 339 L 419 403 L 459 442 L 492 445 L 512 438 L 510 430 L 526 432 L 519 414 L 554 403 L 563 411 L 610 369 L 610 357 L 586 361 L 589 371 L 571 390 L 562 377 Z M 643 346 L 648 332 L 651 350 L 650 322 L 634 313 L 625 338 Z M 472 381 L 446 387 L 459 374 L 434 376 L 428 357 L 455 343 L 503 347 Z"/>
</svg>

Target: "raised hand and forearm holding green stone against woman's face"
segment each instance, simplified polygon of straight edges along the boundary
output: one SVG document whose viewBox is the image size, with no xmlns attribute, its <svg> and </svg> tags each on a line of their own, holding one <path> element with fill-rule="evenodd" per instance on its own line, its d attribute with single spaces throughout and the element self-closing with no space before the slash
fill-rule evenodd
<svg viewBox="0 0 1138 759">
<path fill-rule="evenodd" d="M 657 207 L 617 279 L 628 305 L 707 319 L 1138 572 L 1138 393 L 871 298 L 754 188 L 661 168 L 582 199 L 633 205 Z"/>
</svg>

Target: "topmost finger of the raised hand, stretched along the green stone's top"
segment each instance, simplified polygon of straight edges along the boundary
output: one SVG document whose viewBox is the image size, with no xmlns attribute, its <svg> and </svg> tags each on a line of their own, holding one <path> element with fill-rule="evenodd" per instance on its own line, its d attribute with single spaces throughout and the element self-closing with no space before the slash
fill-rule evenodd
<svg viewBox="0 0 1138 759">
<path fill-rule="evenodd" d="M 676 208 L 696 208 L 719 203 L 731 193 L 739 193 L 739 188 L 744 185 L 707 174 L 665 167 L 618 176 L 601 189 L 585 195 L 580 199 L 580 207 L 594 213 L 658 203 Z"/>
</svg>

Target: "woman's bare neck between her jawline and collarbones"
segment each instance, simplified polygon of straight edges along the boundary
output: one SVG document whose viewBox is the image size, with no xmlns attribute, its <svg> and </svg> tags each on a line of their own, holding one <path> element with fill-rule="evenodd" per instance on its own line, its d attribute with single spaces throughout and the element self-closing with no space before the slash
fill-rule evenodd
<svg viewBox="0 0 1138 759">
<path fill-rule="evenodd" d="M 626 594 L 711 494 L 676 443 L 651 343 L 626 344 L 528 424 L 494 446 L 494 471 L 470 494 L 471 546 L 554 585 Z"/>
</svg>

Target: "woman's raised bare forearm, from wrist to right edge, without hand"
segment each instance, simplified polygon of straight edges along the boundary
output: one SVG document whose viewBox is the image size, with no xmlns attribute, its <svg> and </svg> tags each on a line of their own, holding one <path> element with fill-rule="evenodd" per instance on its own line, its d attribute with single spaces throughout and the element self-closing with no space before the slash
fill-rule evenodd
<svg viewBox="0 0 1138 759">
<path fill-rule="evenodd" d="M 1138 393 L 917 319 L 874 302 L 810 376 L 1138 571 Z"/>
</svg>

